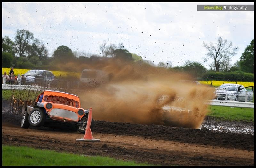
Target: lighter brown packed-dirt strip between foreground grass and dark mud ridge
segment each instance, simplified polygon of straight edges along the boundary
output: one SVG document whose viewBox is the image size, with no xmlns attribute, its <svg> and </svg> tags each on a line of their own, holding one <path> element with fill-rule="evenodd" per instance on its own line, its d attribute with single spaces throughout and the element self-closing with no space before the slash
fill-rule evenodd
<svg viewBox="0 0 256 168">
<path fill-rule="evenodd" d="M 76 139 L 84 136 L 81 133 L 47 129 L 45 127 L 21 129 L 19 126 L 14 127 L 9 123 L 3 123 L 2 144 L 83 155 L 110 156 L 160 165 L 254 165 L 254 136 L 251 140 L 247 139 L 251 144 L 246 149 L 240 145 L 223 147 L 224 145 L 208 145 L 207 141 L 205 144 L 184 143 L 184 140 L 179 140 L 179 142 L 161 140 L 165 138 L 154 136 L 117 135 L 99 133 L 100 131 L 93 132 L 94 138 L 100 139 L 100 142 L 83 143 L 76 142 Z M 193 134 L 193 131 L 191 133 Z M 179 135 L 176 136 L 179 137 Z M 244 138 L 241 137 L 241 139 Z"/>
</svg>

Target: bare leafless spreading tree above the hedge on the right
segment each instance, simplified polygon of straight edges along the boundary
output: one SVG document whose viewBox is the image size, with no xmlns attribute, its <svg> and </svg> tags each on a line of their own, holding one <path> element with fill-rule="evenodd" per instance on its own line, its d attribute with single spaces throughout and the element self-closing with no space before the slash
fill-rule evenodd
<svg viewBox="0 0 256 168">
<path fill-rule="evenodd" d="M 238 47 L 232 47 L 232 42 L 227 42 L 227 40 L 223 39 L 222 37 L 219 37 L 217 39 L 217 43 L 210 42 L 210 44 L 206 44 L 204 42 L 203 46 L 208 50 L 208 53 L 206 54 L 204 60 L 208 61 L 209 59 L 213 59 L 212 65 L 214 65 L 214 69 L 217 72 L 221 70 L 221 65 L 223 67 L 226 64 L 225 62 L 227 62 L 234 55 L 236 55 L 236 52 L 238 50 Z"/>
</svg>

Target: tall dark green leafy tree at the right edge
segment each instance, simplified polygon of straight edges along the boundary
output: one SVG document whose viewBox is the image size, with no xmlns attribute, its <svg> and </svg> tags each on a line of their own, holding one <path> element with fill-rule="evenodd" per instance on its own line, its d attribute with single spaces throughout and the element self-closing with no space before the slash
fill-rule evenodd
<svg viewBox="0 0 256 168">
<path fill-rule="evenodd" d="M 240 57 L 241 70 L 254 73 L 254 39 L 248 45 Z"/>
</svg>

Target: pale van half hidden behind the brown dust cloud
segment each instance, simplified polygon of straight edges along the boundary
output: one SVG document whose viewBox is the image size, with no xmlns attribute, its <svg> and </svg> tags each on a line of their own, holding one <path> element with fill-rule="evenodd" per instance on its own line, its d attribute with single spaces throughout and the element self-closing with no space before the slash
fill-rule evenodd
<svg viewBox="0 0 256 168">
<path fill-rule="evenodd" d="M 84 69 L 80 76 L 80 86 L 95 86 L 106 83 L 110 76 L 102 70 Z"/>
</svg>

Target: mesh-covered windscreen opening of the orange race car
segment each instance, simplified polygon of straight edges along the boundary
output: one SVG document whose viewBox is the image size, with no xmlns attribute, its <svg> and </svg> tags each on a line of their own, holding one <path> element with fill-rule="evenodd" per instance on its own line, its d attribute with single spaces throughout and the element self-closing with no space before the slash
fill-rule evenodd
<svg viewBox="0 0 256 168">
<path fill-rule="evenodd" d="M 65 98 L 65 97 L 45 95 L 44 96 L 44 101 L 57 103 L 57 104 L 64 104 L 64 105 L 73 106 L 73 107 L 79 107 L 79 102 L 78 101 L 68 99 L 68 98 Z"/>
</svg>

